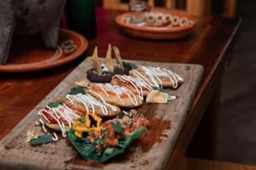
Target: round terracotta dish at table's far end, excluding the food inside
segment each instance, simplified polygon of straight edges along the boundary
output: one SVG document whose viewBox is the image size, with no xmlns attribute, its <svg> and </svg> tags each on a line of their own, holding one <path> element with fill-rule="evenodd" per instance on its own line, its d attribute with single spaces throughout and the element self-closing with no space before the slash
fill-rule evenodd
<svg viewBox="0 0 256 170">
<path fill-rule="evenodd" d="M 177 16 L 179 18 L 185 17 L 192 21 L 189 26 L 137 26 L 131 23 L 125 22 L 125 19 L 134 16 L 134 13 L 119 14 L 116 17 L 116 23 L 129 35 L 132 37 L 146 38 L 146 39 L 180 39 L 189 35 L 196 25 L 195 17 L 190 16 L 181 11 L 172 10 L 152 10 L 149 13 L 153 14 L 171 14 L 172 16 Z"/>
</svg>

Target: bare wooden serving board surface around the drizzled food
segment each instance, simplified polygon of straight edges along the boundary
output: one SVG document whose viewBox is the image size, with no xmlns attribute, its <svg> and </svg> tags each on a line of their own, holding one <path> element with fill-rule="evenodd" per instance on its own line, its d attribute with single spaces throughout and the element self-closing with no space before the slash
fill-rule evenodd
<svg viewBox="0 0 256 170">
<path fill-rule="evenodd" d="M 86 71 L 92 67 L 92 62 L 87 58 L 1 141 L 0 169 L 161 169 L 168 161 L 183 127 L 191 99 L 201 81 L 203 67 L 201 65 L 127 61 L 135 65 L 171 69 L 184 78 L 181 87 L 170 90 L 170 94 L 177 95 L 177 99 L 169 101 L 166 105 L 145 103 L 138 108 L 138 112 L 143 112 L 150 123 L 148 133 L 142 139 L 137 139 L 125 150 L 125 153 L 113 157 L 104 164 L 81 160 L 68 139 L 36 147 L 26 143 L 27 130 L 42 131 L 41 126 L 35 125 L 35 121 L 38 120 L 37 112 L 49 101 L 65 96 L 73 87 L 73 82 L 87 80 Z"/>
</svg>

